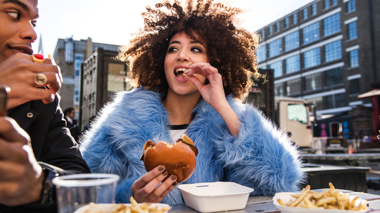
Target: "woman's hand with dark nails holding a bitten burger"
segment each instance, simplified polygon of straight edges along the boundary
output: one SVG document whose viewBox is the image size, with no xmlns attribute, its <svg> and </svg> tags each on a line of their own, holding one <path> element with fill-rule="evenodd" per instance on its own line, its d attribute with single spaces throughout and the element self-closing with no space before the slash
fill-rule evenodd
<svg viewBox="0 0 380 213">
<path fill-rule="evenodd" d="M 139 203 L 159 203 L 177 183 L 192 175 L 196 166 L 196 155 L 198 149 L 186 134 L 175 144 L 148 140 L 144 144 L 140 159 L 144 161 L 148 173 L 134 181 L 133 197 Z"/>
</svg>

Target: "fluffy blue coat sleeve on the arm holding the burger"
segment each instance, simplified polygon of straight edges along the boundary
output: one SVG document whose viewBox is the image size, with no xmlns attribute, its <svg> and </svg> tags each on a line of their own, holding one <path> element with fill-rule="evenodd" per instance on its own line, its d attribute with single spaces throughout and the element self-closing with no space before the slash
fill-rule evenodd
<svg viewBox="0 0 380 213">
<path fill-rule="evenodd" d="M 132 106 L 138 108 L 140 105 L 135 105 L 133 100 L 126 100 L 123 97 L 126 94 L 118 94 L 113 103 L 101 110 L 99 119 L 83 136 L 80 147 L 92 173 L 120 176 L 117 203 L 130 202 L 133 182 L 146 173 L 144 164 L 140 161 L 146 135 L 137 134 L 141 128 L 126 109 L 131 109 Z"/>
</svg>

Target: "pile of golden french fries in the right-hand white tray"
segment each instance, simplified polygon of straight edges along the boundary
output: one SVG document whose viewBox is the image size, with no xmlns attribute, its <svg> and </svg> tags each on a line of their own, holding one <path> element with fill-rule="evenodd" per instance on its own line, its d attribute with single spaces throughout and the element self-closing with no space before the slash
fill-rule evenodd
<svg viewBox="0 0 380 213">
<path fill-rule="evenodd" d="M 357 195 L 345 195 L 336 190 L 332 183 L 329 183 L 329 186 L 330 189 L 318 193 L 311 191 L 310 185 L 307 185 L 300 194 L 291 195 L 295 199 L 292 199 L 287 203 L 284 203 L 281 199 L 277 199 L 277 202 L 282 206 L 309 209 L 367 210 L 367 200 L 361 199 Z"/>
</svg>

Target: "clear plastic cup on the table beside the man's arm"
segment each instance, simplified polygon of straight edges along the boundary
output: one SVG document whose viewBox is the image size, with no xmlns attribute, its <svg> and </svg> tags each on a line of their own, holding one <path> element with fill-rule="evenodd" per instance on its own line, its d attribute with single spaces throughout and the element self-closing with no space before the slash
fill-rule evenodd
<svg viewBox="0 0 380 213">
<path fill-rule="evenodd" d="M 114 174 L 78 174 L 58 176 L 53 179 L 57 193 L 58 213 L 74 213 L 82 206 L 94 203 L 115 203 Z"/>
</svg>

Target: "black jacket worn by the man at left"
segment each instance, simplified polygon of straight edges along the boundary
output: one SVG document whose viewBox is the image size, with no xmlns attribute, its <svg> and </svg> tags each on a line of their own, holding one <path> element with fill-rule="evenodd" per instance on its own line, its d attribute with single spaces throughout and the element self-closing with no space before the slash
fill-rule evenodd
<svg viewBox="0 0 380 213">
<path fill-rule="evenodd" d="M 59 175 L 90 173 L 79 152 L 78 144 L 66 128 L 63 113 L 59 106 L 60 97 L 50 104 L 31 101 L 8 110 L 13 118 L 31 138 L 37 161 L 55 166 Z M 7 207 L 0 204 L 0 213 L 55 213 L 55 199 L 46 204 L 27 204 Z"/>
</svg>

